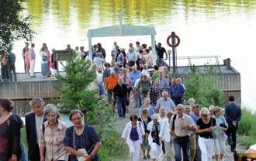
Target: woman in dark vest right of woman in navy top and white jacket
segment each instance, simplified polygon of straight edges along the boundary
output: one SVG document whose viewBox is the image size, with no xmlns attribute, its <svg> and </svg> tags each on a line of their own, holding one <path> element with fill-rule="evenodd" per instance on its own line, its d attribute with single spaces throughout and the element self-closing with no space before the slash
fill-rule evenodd
<svg viewBox="0 0 256 161">
<path fill-rule="evenodd" d="M 147 125 L 149 122 L 151 122 L 151 118 L 148 116 L 148 110 L 146 108 L 142 110 L 142 115 L 138 119 L 138 121 L 144 125 L 144 131 L 147 132 Z M 144 135 L 143 137 L 143 142 L 141 147 L 142 147 L 142 152 L 144 154 L 144 159 L 147 159 L 147 158 L 149 159 L 150 146 L 148 145 L 146 135 Z M 147 154 L 146 154 L 146 150 L 147 150 Z"/>
</svg>

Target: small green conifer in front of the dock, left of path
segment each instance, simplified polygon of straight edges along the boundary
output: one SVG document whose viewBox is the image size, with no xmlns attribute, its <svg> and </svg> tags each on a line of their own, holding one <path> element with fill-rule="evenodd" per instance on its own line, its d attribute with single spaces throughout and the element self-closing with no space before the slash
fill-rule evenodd
<svg viewBox="0 0 256 161">
<path fill-rule="evenodd" d="M 58 75 L 57 79 L 63 82 L 61 97 L 57 102 L 62 109 L 82 109 L 87 108 L 92 110 L 95 108 L 95 102 L 98 98 L 95 97 L 95 91 L 89 91 L 88 85 L 95 81 L 95 70 L 91 70 L 89 61 L 78 59 L 78 53 L 71 50 L 66 63 L 62 63 L 65 74 Z"/>
</svg>

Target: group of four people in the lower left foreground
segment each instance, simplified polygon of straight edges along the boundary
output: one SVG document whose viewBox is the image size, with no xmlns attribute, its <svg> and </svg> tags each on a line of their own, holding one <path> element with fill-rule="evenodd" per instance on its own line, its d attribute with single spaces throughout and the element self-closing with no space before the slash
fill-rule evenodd
<svg viewBox="0 0 256 161">
<path fill-rule="evenodd" d="M 67 127 L 61 122 L 54 104 L 44 105 L 42 98 L 30 101 L 32 112 L 25 115 L 12 113 L 13 102 L 0 99 L 0 160 L 1 161 L 97 161 L 101 147 L 95 128 L 82 122 L 83 113 L 72 110 Z M 28 155 L 22 142 L 21 128 L 26 128 Z"/>
</svg>

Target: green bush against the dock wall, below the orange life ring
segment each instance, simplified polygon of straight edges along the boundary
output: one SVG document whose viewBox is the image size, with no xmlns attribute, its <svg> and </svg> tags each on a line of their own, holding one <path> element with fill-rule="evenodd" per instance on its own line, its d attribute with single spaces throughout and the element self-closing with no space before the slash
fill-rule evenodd
<svg viewBox="0 0 256 161">
<path fill-rule="evenodd" d="M 209 105 L 223 106 L 224 94 L 216 87 L 216 74 L 214 67 L 206 66 L 205 71 L 199 72 L 193 67 L 189 78 L 185 81 L 186 93 L 185 100 L 194 98 L 196 104 L 201 107 L 209 107 Z"/>
</svg>

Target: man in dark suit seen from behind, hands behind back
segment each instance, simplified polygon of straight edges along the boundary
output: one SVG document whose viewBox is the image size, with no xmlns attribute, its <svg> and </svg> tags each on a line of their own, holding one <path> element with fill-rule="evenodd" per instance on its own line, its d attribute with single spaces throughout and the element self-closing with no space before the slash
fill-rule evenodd
<svg viewBox="0 0 256 161">
<path fill-rule="evenodd" d="M 234 96 L 228 98 L 230 102 L 225 107 L 225 118 L 227 120 L 227 142 L 230 145 L 231 152 L 236 149 L 237 146 L 237 128 L 238 122 L 242 117 L 241 108 L 234 102 Z"/>
</svg>

